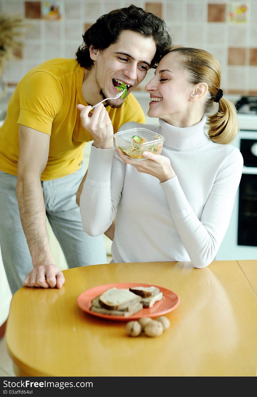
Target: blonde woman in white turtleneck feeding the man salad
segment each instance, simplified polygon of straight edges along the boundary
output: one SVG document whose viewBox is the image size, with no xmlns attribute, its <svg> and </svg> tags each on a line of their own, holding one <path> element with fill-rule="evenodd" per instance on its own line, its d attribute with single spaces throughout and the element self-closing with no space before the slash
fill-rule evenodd
<svg viewBox="0 0 257 397">
<path fill-rule="evenodd" d="M 125 77 L 121 77 L 126 82 Z M 165 137 L 160 155 L 135 161 L 113 148 L 111 122 L 98 106 L 83 126 L 94 136 L 80 208 L 84 231 L 100 235 L 117 213 L 113 262 L 192 261 L 209 265 L 228 227 L 243 158 L 229 145 L 238 132 L 234 105 L 222 97 L 219 62 L 208 52 L 176 48 L 146 85 L 148 116 L 160 126 L 130 122 Z M 153 99 L 157 98 L 157 99 Z M 218 111 L 206 116 L 218 102 Z M 209 125 L 209 136 L 204 125 Z"/>
</svg>

